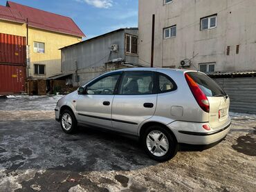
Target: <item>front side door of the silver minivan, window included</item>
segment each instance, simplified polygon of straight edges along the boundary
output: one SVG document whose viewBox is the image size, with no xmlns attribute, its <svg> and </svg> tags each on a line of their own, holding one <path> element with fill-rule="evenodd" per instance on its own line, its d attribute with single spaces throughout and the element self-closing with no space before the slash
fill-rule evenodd
<svg viewBox="0 0 256 192">
<path fill-rule="evenodd" d="M 113 93 L 121 72 L 98 77 L 85 87 L 77 99 L 77 121 L 92 126 L 112 128 Z"/>
</svg>

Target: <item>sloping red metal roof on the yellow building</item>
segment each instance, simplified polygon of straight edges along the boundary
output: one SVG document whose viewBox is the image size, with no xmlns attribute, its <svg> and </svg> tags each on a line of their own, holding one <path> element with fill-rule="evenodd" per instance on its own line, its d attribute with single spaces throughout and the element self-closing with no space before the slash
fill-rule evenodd
<svg viewBox="0 0 256 192">
<path fill-rule="evenodd" d="M 82 30 L 69 17 L 23 6 L 12 1 L 7 1 L 6 7 L 0 6 L 0 19 L 22 23 L 26 23 L 28 19 L 28 26 L 34 28 L 85 37 Z"/>
</svg>

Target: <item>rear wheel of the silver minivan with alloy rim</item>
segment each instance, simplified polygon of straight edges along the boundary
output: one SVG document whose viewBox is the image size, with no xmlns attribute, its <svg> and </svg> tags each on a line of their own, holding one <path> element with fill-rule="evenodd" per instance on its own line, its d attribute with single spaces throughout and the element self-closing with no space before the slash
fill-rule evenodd
<svg viewBox="0 0 256 192">
<path fill-rule="evenodd" d="M 176 139 L 163 126 L 149 126 L 143 132 L 141 142 L 145 153 L 158 162 L 172 159 L 178 151 Z"/>
</svg>

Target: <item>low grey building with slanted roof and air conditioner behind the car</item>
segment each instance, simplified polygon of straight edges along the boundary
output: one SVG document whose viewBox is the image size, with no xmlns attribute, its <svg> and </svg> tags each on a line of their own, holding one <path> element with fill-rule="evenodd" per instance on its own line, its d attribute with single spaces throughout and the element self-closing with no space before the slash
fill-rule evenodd
<svg viewBox="0 0 256 192">
<path fill-rule="evenodd" d="M 66 84 L 82 86 L 109 70 L 138 66 L 138 28 L 120 28 L 61 50 Z"/>
</svg>

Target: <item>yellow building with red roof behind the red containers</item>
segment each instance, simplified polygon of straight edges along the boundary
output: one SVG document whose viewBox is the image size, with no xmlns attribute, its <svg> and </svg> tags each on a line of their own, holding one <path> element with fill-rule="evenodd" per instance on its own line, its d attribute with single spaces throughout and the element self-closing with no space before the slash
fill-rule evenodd
<svg viewBox="0 0 256 192">
<path fill-rule="evenodd" d="M 60 74 L 59 49 L 85 36 L 69 17 L 11 1 L 0 6 L 0 32 L 26 37 L 28 77 L 34 78 Z"/>
</svg>

